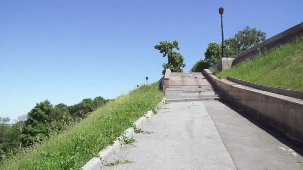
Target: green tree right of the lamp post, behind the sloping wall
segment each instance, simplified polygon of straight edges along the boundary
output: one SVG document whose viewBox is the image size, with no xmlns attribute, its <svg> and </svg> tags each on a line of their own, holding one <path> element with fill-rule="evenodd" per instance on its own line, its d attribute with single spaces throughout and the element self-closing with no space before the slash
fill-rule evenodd
<svg viewBox="0 0 303 170">
<path fill-rule="evenodd" d="M 265 39 L 265 32 L 246 26 L 243 30 L 238 31 L 234 37 L 226 39 L 224 43 L 231 49 L 231 55 L 235 55 L 248 48 L 251 48 L 255 44 L 258 44 Z"/>
</svg>

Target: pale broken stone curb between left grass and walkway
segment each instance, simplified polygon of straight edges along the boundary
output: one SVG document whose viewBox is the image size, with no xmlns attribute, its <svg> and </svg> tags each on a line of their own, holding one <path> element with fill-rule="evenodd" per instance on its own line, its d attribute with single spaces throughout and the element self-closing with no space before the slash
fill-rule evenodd
<svg viewBox="0 0 303 170">
<path fill-rule="evenodd" d="M 160 109 L 165 104 L 164 98 L 157 106 Z M 152 110 L 149 110 L 144 116 L 140 117 L 135 123 L 134 127 L 140 129 L 143 125 L 154 115 Z M 90 159 L 83 167 L 83 170 L 101 170 L 102 167 L 120 150 L 121 146 L 125 145 L 125 140 L 132 138 L 135 134 L 135 129 L 130 127 L 126 129 L 121 136 L 116 138 L 111 146 L 104 148 L 99 152 L 99 157 Z"/>
</svg>

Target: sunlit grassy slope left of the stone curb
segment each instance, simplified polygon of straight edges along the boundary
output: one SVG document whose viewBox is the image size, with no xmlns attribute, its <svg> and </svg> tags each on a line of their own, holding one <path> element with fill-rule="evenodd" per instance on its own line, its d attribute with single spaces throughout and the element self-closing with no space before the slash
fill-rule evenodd
<svg viewBox="0 0 303 170">
<path fill-rule="evenodd" d="M 144 85 L 91 113 L 43 144 L 18 154 L 0 170 L 79 169 L 162 100 L 158 84 Z"/>
</svg>

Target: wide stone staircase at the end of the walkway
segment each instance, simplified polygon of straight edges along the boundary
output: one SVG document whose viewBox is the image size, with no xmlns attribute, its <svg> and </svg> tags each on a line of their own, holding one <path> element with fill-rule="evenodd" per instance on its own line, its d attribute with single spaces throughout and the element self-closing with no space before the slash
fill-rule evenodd
<svg viewBox="0 0 303 170">
<path fill-rule="evenodd" d="M 202 73 L 165 74 L 169 79 L 165 89 L 166 102 L 218 100 L 218 94 Z"/>
</svg>

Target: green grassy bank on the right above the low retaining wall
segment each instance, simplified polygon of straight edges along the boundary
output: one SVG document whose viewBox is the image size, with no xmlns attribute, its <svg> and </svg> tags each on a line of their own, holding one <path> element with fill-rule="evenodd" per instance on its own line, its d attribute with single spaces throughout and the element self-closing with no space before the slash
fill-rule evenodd
<svg viewBox="0 0 303 170">
<path fill-rule="evenodd" d="M 215 73 L 238 79 L 303 91 L 303 40 L 275 48 L 255 60 Z"/>
</svg>

